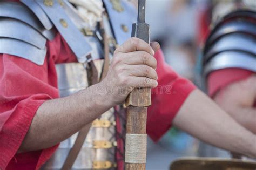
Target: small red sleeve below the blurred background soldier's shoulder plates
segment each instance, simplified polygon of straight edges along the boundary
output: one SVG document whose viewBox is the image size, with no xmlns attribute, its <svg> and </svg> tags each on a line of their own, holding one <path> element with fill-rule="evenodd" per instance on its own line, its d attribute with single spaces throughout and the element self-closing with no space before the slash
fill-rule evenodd
<svg viewBox="0 0 256 170">
<path fill-rule="evenodd" d="M 235 68 L 214 71 L 210 73 L 207 79 L 208 94 L 213 97 L 219 90 L 229 84 L 246 79 L 252 74 L 252 71 Z"/>
</svg>

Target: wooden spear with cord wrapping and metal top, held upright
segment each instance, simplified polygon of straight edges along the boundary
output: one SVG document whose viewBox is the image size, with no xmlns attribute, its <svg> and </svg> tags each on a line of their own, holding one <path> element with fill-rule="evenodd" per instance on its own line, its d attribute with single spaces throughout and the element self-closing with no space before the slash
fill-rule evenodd
<svg viewBox="0 0 256 170">
<path fill-rule="evenodd" d="M 145 0 L 138 3 L 138 22 L 132 25 L 132 37 L 150 42 L 149 24 L 145 23 Z M 125 169 L 144 170 L 146 163 L 147 107 L 151 105 L 151 89 L 134 89 L 126 102 Z"/>
</svg>

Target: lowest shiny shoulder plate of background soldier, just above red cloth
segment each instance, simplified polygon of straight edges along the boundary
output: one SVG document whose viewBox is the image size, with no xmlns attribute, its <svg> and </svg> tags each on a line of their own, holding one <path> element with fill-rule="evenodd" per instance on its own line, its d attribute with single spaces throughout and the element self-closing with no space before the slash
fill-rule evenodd
<svg viewBox="0 0 256 170">
<path fill-rule="evenodd" d="M 240 68 L 256 72 L 256 56 L 245 52 L 225 51 L 214 56 L 204 68 L 204 77 L 215 70 Z"/>
</svg>

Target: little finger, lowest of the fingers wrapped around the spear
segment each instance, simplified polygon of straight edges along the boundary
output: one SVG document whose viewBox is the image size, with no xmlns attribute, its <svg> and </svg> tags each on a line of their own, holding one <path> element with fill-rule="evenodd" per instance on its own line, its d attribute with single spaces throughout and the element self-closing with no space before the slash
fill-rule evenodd
<svg viewBox="0 0 256 170">
<path fill-rule="evenodd" d="M 131 77 L 129 81 L 130 86 L 134 88 L 156 87 L 158 85 L 157 80 L 146 77 Z"/>
</svg>

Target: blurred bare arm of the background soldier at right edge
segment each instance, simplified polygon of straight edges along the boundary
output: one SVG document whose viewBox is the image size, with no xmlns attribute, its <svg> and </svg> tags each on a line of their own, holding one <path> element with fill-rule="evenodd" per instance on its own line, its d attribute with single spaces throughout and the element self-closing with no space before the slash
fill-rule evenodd
<svg viewBox="0 0 256 170">
<path fill-rule="evenodd" d="M 256 74 L 224 87 L 213 99 L 239 124 L 256 134 Z"/>
</svg>

